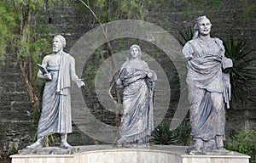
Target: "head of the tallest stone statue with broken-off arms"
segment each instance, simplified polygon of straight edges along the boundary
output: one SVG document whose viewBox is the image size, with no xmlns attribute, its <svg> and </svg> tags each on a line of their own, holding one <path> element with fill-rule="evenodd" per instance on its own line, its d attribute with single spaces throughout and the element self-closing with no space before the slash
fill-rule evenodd
<svg viewBox="0 0 256 163">
<path fill-rule="evenodd" d="M 193 39 L 199 37 L 199 35 L 207 36 L 210 35 L 212 24 L 207 16 L 201 16 L 195 21 L 195 33 Z"/>
</svg>

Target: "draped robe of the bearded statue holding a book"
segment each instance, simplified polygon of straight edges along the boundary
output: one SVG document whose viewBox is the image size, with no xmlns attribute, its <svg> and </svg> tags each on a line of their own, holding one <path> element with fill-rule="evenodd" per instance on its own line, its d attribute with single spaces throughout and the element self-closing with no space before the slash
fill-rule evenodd
<svg viewBox="0 0 256 163">
<path fill-rule="evenodd" d="M 52 76 L 44 86 L 42 113 L 38 122 L 38 138 L 51 133 L 72 132 L 70 98 L 70 55 L 61 53 L 61 63 L 47 66 Z"/>
</svg>

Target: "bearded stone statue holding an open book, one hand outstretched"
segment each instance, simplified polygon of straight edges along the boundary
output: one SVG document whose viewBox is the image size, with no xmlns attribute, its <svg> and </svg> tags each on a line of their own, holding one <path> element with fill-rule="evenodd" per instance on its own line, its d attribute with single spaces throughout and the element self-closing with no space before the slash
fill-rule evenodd
<svg viewBox="0 0 256 163">
<path fill-rule="evenodd" d="M 38 65 L 38 78 L 46 80 L 43 94 L 43 105 L 38 122 L 38 140 L 27 149 L 43 147 L 43 138 L 51 133 L 61 133 L 61 148 L 70 149 L 67 133 L 72 132 L 70 79 L 78 87 L 84 82 L 76 75 L 73 56 L 63 51 L 66 40 L 57 35 L 53 40 L 53 52 L 46 55 L 42 65 Z"/>
</svg>

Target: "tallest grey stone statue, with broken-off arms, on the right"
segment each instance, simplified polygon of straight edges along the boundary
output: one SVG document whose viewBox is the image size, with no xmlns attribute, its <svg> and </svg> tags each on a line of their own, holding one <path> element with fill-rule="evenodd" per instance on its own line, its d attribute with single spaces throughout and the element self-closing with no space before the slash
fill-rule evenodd
<svg viewBox="0 0 256 163">
<path fill-rule="evenodd" d="M 183 47 L 188 59 L 189 118 L 194 146 L 190 155 L 224 150 L 225 109 L 229 108 L 230 76 L 223 70 L 232 67 L 224 57 L 224 45 L 210 37 L 212 24 L 206 16 L 195 23 L 195 34 Z"/>
</svg>

